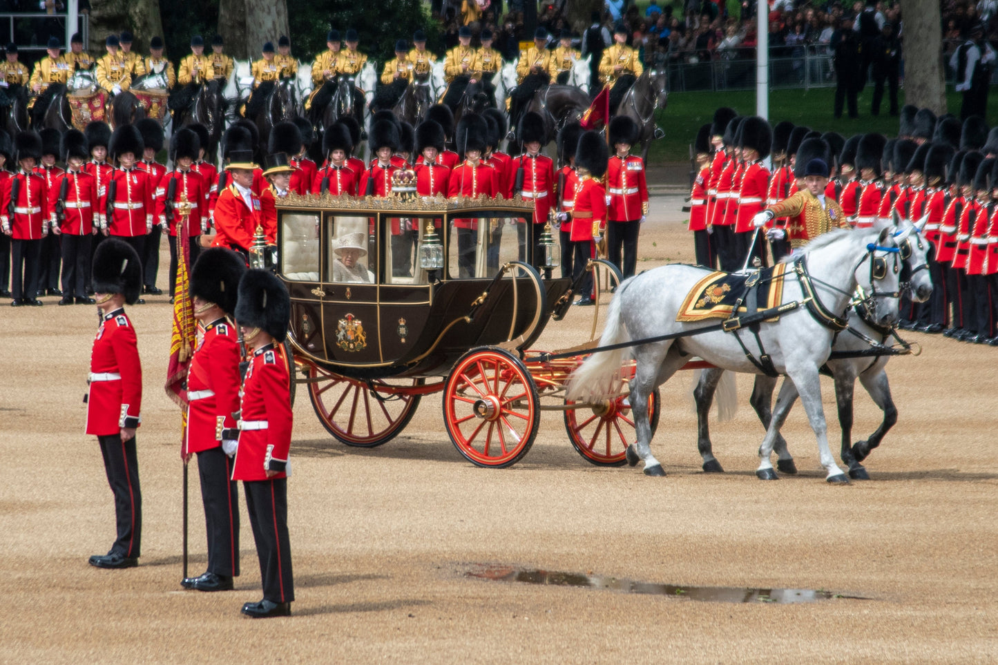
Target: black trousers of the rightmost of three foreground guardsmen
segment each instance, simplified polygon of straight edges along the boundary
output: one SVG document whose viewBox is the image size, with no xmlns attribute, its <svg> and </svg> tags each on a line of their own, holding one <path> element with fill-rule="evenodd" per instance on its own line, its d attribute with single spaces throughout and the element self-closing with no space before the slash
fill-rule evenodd
<svg viewBox="0 0 998 665">
<path fill-rule="evenodd" d="M 263 580 L 263 598 L 274 603 L 294 600 L 291 544 L 287 538 L 287 478 L 245 480 L 252 537 Z"/>
</svg>

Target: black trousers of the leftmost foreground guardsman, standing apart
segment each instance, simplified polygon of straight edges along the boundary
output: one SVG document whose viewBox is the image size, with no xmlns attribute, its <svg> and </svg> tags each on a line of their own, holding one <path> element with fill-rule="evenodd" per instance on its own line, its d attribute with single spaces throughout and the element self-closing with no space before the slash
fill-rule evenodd
<svg viewBox="0 0 998 665">
<path fill-rule="evenodd" d="M 118 536 L 111 551 L 137 558 L 142 543 L 142 489 L 139 486 L 139 456 L 136 437 L 122 441 L 120 434 L 98 436 L 108 484 L 115 495 L 115 516 Z"/>
</svg>

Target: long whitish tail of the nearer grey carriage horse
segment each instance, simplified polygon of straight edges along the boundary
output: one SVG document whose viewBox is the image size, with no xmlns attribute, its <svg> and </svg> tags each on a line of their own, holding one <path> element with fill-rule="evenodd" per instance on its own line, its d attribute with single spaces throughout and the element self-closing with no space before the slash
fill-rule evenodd
<svg viewBox="0 0 998 665">
<path fill-rule="evenodd" d="M 621 310 L 624 292 L 629 282 L 617 288 L 617 294 L 607 310 L 607 323 L 600 337 L 600 346 L 610 346 L 631 340 Z M 616 394 L 615 384 L 621 377 L 621 367 L 631 357 L 631 347 L 597 351 L 590 355 L 568 378 L 565 397 L 575 401 L 595 401 L 609 394 Z"/>
</svg>

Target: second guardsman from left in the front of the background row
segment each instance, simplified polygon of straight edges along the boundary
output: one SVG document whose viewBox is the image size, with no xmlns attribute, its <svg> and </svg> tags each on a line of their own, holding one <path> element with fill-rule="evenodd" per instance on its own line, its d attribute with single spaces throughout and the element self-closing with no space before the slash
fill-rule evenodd
<svg viewBox="0 0 998 665">
<path fill-rule="evenodd" d="M 62 159 L 66 172 L 49 189 L 49 215 L 62 235 L 62 291 L 59 305 L 93 305 L 87 296 L 90 273 L 94 213 L 97 211 L 97 180 L 83 170 L 90 157 L 87 137 L 77 129 L 62 137 Z"/>
</svg>

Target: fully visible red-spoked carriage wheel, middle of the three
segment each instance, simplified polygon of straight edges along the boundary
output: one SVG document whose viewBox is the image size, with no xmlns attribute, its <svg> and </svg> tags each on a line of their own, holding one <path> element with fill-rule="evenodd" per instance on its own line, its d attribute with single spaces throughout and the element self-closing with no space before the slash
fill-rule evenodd
<svg viewBox="0 0 998 665">
<path fill-rule="evenodd" d="M 471 350 L 447 377 L 444 424 L 454 447 L 473 464 L 515 463 L 533 444 L 540 416 L 534 379 L 509 351 Z"/>
</svg>

